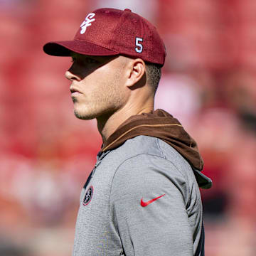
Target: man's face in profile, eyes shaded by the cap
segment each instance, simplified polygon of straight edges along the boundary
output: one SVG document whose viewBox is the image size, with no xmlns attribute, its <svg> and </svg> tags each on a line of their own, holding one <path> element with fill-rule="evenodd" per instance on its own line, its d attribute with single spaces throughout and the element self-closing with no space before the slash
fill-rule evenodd
<svg viewBox="0 0 256 256">
<path fill-rule="evenodd" d="M 71 53 L 73 65 L 65 73 L 72 81 L 70 91 L 75 116 L 80 119 L 104 117 L 119 110 L 126 101 L 123 56 L 88 56 Z"/>
</svg>

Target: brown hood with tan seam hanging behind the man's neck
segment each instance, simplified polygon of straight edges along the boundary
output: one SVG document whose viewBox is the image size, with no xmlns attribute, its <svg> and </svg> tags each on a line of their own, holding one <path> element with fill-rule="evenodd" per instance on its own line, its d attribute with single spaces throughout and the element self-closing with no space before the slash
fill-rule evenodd
<svg viewBox="0 0 256 256">
<path fill-rule="evenodd" d="M 198 186 L 201 188 L 212 186 L 210 178 L 201 173 L 203 159 L 195 140 L 185 131 L 178 119 L 164 110 L 152 110 L 149 113 L 129 117 L 102 145 L 102 152 L 117 148 L 127 139 L 139 135 L 156 137 L 170 144 L 191 165 Z"/>
</svg>

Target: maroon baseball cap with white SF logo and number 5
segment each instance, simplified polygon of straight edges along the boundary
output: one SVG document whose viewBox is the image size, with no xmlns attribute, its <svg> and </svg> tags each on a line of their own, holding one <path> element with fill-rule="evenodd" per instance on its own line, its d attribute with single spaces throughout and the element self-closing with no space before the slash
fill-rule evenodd
<svg viewBox="0 0 256 256">
<path fill-rule="evenodd" d="M 73 41 L 55 41 L 43 46 L 45 53 L 70 56 L 126 55 L 164 65 L 166 50 L 156 28 L 131 10 L 97 9 L 85 17 Z"/>
</svg>

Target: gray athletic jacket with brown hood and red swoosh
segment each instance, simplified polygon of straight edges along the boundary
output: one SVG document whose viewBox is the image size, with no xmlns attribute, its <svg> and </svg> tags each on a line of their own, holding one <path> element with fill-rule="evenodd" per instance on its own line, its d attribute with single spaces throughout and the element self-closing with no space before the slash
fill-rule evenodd
<svg viewBox="0 0 256 256">
<path fill-rule="evenodd" d="M 80 195 L 73 256 L 202 256 L 196 142 L 164 110 L 129 117 L 97 154 Z"/>
</svg>

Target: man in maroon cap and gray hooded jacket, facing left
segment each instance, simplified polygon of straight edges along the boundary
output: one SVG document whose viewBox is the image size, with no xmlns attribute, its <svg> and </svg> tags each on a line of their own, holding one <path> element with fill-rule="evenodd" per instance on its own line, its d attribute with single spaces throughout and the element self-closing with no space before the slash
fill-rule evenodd
<svg viewBox="0 0 256 256">
<path fill-rule="evenodd" d="M 129 9 L 97 9 L 73 41 L 47 43 L 71 56 L 65 73 L 75 116 L 97 119 L 102 148 L 80 196 L 73 255 L 204 255 L 196 142 L 154 110 L 165 48 L 156 28 Z"/>
</svg>

